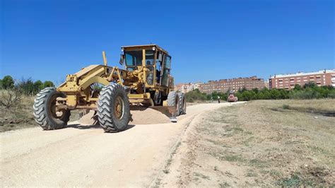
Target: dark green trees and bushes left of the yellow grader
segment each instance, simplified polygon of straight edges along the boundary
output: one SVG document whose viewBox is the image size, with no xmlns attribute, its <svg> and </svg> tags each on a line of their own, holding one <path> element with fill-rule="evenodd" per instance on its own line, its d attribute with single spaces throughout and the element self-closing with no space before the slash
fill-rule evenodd
<svg viewBox="0 0 335 188">
<path fill-rule="evenodd" d="M 52 81 L 33 81 L 31 78 L 22 78 L 14 81 L 14 79 L 7 75 L 0 79 L 0 89 L 3 90 L 18 90 L 24 95 L 36 95 L 43 88 L 54 87 Z"/>
</svg>

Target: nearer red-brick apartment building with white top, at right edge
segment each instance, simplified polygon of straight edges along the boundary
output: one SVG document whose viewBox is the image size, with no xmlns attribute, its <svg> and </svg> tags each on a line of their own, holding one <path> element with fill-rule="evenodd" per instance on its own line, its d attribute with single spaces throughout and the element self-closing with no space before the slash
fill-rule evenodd
<svg viewBox="0 0 335 188">
<path fill-rule="evenodd" d="M 317 72 L 296 74 L 278 74 L 270 76 L 269 88 L 293 89 L 295 84 L 304 86 L 305 83 L 314 82 L 317 86 L 335 86 L 335 69 Z"/>
</svg>

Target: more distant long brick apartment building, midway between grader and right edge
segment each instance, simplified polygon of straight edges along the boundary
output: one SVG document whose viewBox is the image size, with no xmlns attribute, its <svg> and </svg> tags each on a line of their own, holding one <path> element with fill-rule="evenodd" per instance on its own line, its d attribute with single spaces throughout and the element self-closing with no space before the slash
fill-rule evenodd
<svg viewBox="0 0 335 188">
<path fill-rule="evenodd" d="M 201 93 L 213 93 L 221 92 L 225 93 L 227 90 L 238 90 L 240 88 L 246 88 L 251 90 L 253 88 L 264 88 L 264 79 L 257 78 L 257 76 L 247 77 L 247 78 L 232 78 L 232 79 L 221 79 L 219 81 L 208 81 L 208 83 L 203 83 L 199 85 L 199 90 Z"/>
</svg>

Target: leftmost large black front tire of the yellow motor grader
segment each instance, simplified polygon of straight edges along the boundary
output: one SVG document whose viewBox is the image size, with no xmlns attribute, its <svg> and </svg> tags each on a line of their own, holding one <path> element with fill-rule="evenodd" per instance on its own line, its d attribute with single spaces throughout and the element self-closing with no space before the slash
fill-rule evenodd
<svg viewBox="0 0 335 188">
<path fill-rule="evenodd" d="M 64 128 L 70 119 L 70 110 L 61 111 L 60 116 L 56 114 L 56 99 L 65 98 L 64 93 L 57 92 L 56 88 L 45 88 L 37 93 L 34 100 L 34 117 L 37 124 L 44 130 Z"/>
</svg>

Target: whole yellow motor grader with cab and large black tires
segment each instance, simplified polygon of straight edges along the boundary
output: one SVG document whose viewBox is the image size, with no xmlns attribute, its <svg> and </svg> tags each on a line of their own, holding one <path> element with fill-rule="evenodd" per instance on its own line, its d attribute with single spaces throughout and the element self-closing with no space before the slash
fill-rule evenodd
<svg viewBox="0 0 335 188">
<path fill-rule="evenodd" d="M 34 116 L 42 129 L 61 129 L 69 122 L 71 110 L 95 110 L 105 132 L 126 129 L 131 119 L 130 105 L 167 106 L 172 116 L 186 113 L 183 93 L 174 88 L 170 75 L 171 57 L 158 45 L 121 47 L 117 66 L 90 65 L 66 76 L 57 88 L 37 94 Z"/>
</svg>

